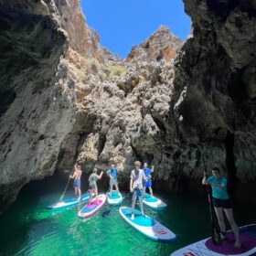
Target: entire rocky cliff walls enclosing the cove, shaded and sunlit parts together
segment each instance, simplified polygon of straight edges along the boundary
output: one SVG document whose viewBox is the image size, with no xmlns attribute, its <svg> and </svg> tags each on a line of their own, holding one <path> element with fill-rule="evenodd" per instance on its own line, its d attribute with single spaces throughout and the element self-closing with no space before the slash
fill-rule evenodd
<svg viewBox="0 0 256 256">
<path fill-rule="evenodd" d="M 87 173 L 117 162 L 124 182 L 133 160 L 146 160 L 157 166 L 155 186 L 180 191 L 197 185 L 202 153 L 256 198 L 256 6 L 185 7 L 193 31 L 183 47 L 160 27 L 118 60 L 79 0 L 0 0 L 0 207 L 75 162 Z"/>
</svg>

